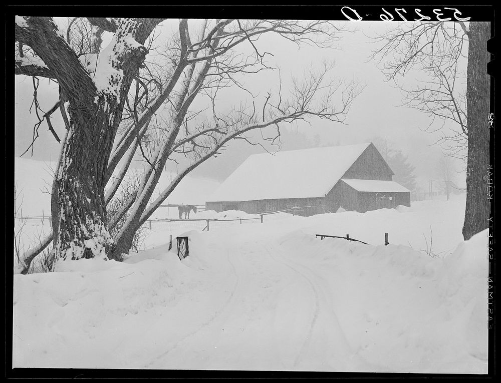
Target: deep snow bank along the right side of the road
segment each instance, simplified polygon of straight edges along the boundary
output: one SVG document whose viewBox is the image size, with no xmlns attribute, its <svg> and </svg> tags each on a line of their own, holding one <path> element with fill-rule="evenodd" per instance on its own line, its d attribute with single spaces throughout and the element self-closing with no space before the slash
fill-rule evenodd
<svg viewBox="0 0 501 383">
<path fill-rule="evenodd" d="M 355 355 L 380 371 L 487 372 L 487 230 L 444 260 L 402 245 L 366 246 L 291 233 L 330 286 Z M 319 243 L 321 242 L 321 243 Z"/>
</svg>

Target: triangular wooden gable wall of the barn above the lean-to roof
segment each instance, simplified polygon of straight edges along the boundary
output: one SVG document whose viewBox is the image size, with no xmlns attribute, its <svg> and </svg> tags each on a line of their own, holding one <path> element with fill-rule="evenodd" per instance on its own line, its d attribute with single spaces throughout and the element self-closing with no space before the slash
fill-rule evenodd
<svg viewBox="0 0 501 383">
<path fill-rule="evenodd" d="M 393 172 L 386 161 L 370 144 L 341 178 L 391 181 L 392 176 Z"/>
</svg>

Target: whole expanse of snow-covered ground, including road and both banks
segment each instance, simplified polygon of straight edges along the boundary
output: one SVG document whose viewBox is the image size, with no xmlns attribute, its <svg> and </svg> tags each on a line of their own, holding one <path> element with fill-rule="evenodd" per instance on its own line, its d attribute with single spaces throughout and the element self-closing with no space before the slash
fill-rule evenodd
<svg viewBox="0 0 501 383">
<path fill-rule="evenodd" d="M 153 222 L 125 262 L 15 275 L 13 366 L 486 373 L 487 233 L 461 241 L 463 214 L 460 196 L 208 232 Z M 249 217 L 190 218 L 224 215 Z"/>
</svg>

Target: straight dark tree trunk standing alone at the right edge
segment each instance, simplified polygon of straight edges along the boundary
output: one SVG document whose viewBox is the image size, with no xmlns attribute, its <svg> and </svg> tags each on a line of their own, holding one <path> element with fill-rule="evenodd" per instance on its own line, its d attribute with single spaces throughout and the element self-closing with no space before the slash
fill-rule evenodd
<svg viewBox="0 0 501 383">
<path fill-rule="evenodd" d="M 468 34 L 467 118 L 468 164 L 466 168 L 466 210 L 463 237 L 470 239 L 488 226 L 489 200 L 487 176 L 489 165 L 490 76 L 487 74 L 487 40 L 490 23 L 470 23 Z"/>
</svg>

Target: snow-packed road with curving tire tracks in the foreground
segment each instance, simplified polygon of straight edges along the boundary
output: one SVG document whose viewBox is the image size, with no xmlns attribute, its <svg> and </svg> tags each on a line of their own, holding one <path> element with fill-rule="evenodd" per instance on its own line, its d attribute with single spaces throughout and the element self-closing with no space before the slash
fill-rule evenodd
<svg viewBox="0 0 501 383">
<path fill-rule="evenodd" d="M 219 254 L 216 262 L 225 267 L 225 299 L 209 317 L 199 318 L 195 329 L 176 333 L 176 340 L 142 367 L 370 370 L 354 356 L 330 287 L 307 258 L 293 260 L 280 248 L 258 243 L 235 241 L 229 247 L 232 251 Z"/>
</svg>

